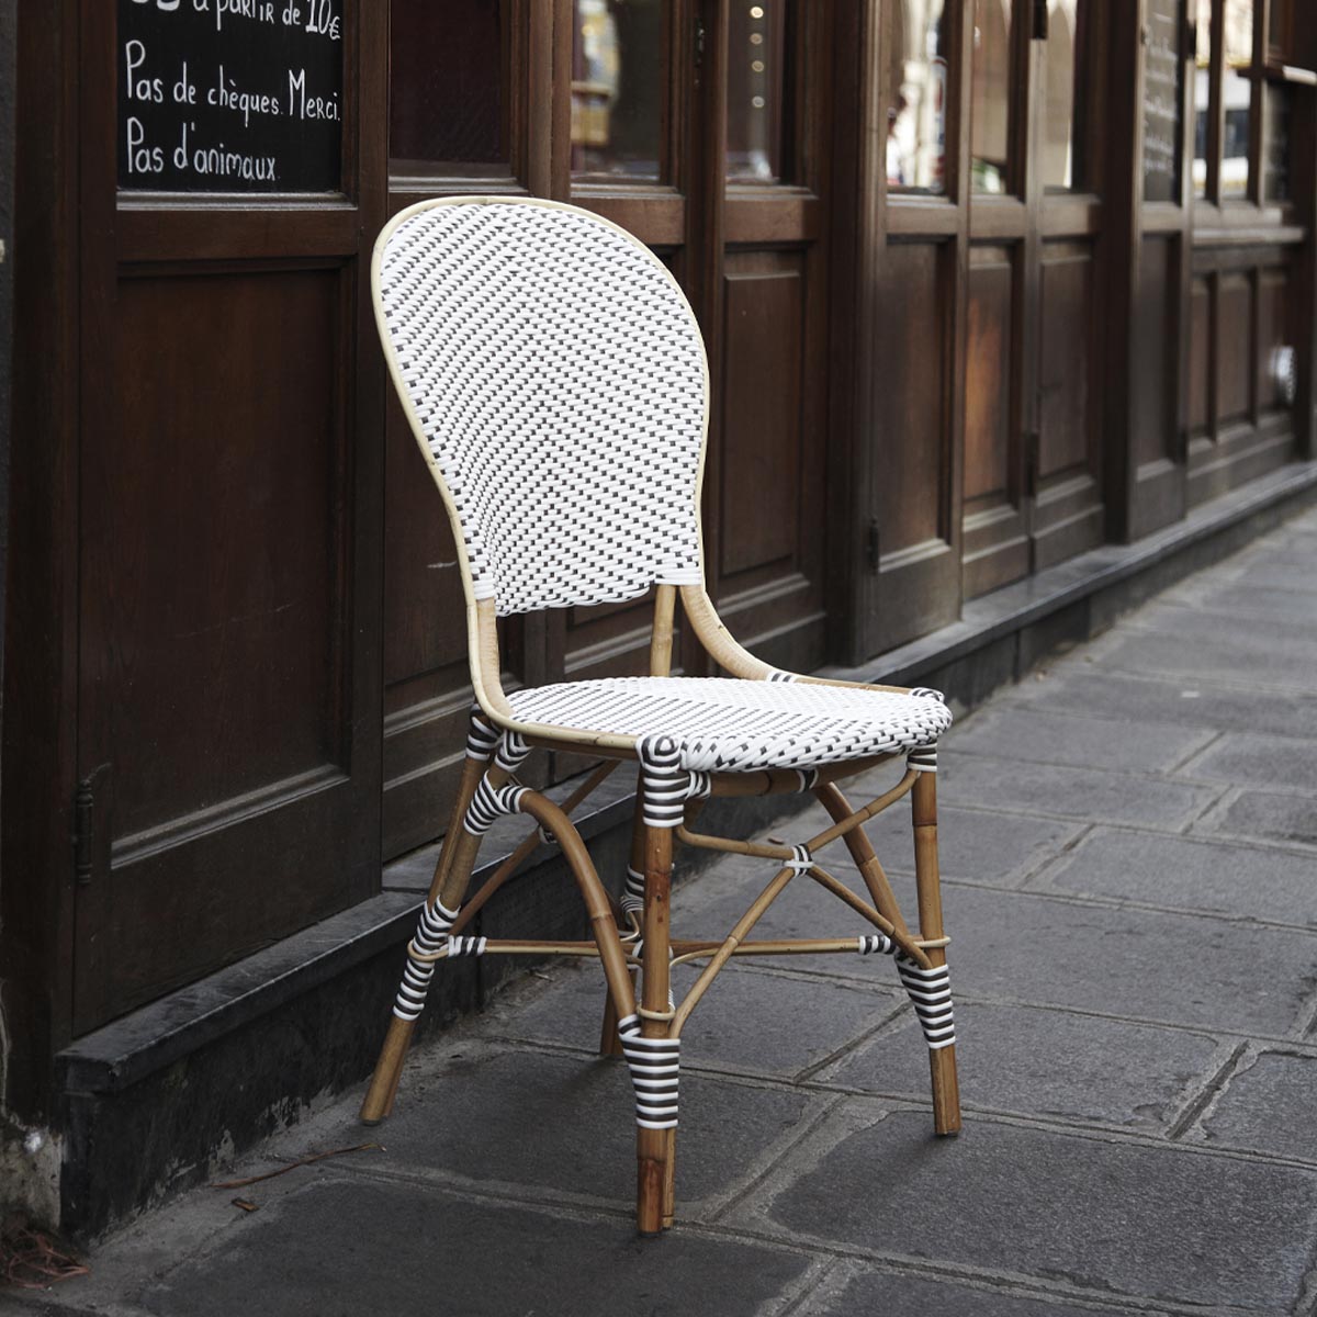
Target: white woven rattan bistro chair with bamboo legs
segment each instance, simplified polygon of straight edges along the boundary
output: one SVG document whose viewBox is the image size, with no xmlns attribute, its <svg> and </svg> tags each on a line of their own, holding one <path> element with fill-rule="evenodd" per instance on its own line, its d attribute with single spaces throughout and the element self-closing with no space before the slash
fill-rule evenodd
<svg viewBox="0 0 1317 1317">
<path fill-rule="evenodd" d="M 741 649 L 705 593 L 699 486 L 709 367 L 686 299 L 624 230 L 570 205 L 454 198 L 423 202 L 379 236 L 375 313 L 394 383 L 448 510 L 466 593 L 471 711 L 466 760 L 429 898 L 362 1106 L 392 1106 L 436 964 L 458 955 L 594 956 L 607 982 L 606 1051 L 620 1051 L 636 1093 L 637 1223 L 672 1223 L 681 1030 L 731 956 L 890 954 L 930 1048 L 934 1123 L 960 1125 L 955 1034 L 938 889 L 936 740 L 951 722 L 932 690 L 856 686 L 780 672 Z M 648 677 L 504 691 L 495 619 L 532 608 L 632 599 L 657 586 Z M 673 612 L 728 677 L 669 676 Z M 564 803 L 522 786 L 533 749 L 601 759 Z M 852 810 L 838 782 L 903 761 L 890 790 Z M 619 763 L 639 763 L 631 867 L 620 901 L 601 882 L 570 811 Z M 811 792 L 832 824 L 798 846 L 691 831 L 706 797 Z M 919 935 L 907 927 L 863 824 L 913 797 Z M 522 813 L 522 847 L 466 898 L 490 824 Z M 465 932 L 543 838 L 562 848 L 593 940 L 512 942 Z M 670 936 L 674 838 L 770 860 L 772 881 L 726 936 Z M 820 867 L 849 851 L 869 894 Z M 749 940 L 788 884 L 807 876 L 865 932 Z M 681 1001 L 674 963 L 703 963 Z M 639 998 L 633 972 L 640 971 Z"/>
</svg>

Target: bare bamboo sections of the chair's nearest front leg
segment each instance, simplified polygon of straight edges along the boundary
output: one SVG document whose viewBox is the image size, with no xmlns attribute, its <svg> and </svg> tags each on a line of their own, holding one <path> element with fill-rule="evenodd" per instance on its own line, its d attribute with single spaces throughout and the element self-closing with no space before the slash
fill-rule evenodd
<svg viewBox="0 0 1317 1317">
<path fill-rule="evenodd" d="M 645 828 L 645 914 L 644 914 L 644 980 L 640 1004 L 647 1011 L 662 1015 L 668 1010 L 670 973 L 668 954 L 670 930 L 668 903 L 672 888 L 672 831 Z M 666 1038 L 662 1019 L 643 1017 L 644 1038 Z M 668 1176 L 674 1148 L 676 1130 L 636 1130 L 636 1227 L 641 1235 L 656 1235 L 670 1225 Z M 668 1214 L 668 1221 L 664 1221 Z"/>
</svg>

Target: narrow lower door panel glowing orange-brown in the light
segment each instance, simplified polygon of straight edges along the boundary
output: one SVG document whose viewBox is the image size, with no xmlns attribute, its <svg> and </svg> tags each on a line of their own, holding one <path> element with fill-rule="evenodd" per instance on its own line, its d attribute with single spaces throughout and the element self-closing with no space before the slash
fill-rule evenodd
<svg viewBox="0 0 1317 1317">
<path fill-rule="evenodd" d="M 965 344 L 964 593 L 1029 572 L 1021 506 L 1018 244 L 973 246 Z"/>
</svg>

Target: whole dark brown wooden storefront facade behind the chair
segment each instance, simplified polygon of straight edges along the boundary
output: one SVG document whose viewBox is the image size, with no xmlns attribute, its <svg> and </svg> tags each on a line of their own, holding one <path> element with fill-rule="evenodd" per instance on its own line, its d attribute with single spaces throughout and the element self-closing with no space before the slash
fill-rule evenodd
<svg viewBox="0 0 1317 1317">
<path fill-rule="evenodd" d="M 1312 453 L 1299 0 L 18 9 L 25 1118 L 70 1040 L 370 898 L 443 827 L 464 612 L 367 286 L 400 207 L 570 200 L 668 262 L 711 362 L 710 590 L 782 666 L 863 662 Z M 225 86 L 198 126 L 188 88 Z M 506 680 L 636 670 L 644 614 L 514 619 Z"/>
</svg>

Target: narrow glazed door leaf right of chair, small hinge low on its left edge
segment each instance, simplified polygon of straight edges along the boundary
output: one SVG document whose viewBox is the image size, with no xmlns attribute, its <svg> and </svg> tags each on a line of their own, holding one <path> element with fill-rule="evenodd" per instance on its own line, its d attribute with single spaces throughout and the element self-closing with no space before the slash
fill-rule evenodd
<svg viewBox="0 0 1317 1317">
<path fill-rule="evenodd" d="M 884 0 L 877 17 L 856 271 L 863 655 L 959 616 L 964 446 L 968 0 Z"/>
</svg>

